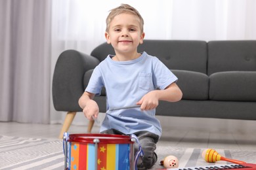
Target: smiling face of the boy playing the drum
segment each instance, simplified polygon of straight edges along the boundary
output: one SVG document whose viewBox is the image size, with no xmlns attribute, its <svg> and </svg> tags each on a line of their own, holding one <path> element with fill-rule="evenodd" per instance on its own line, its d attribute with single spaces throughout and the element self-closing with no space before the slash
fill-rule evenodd
<svg viewBox="0 0 256 170">
<path fill-rule="evenodd" d="M 144 33 L 140 30 L 140 20 L 133 14 L 119 14 L 110 22 L 105 33 L 108 44 L 112 44 L 117 54 L 137 52 L 137 46 L 143 42 Z"/>
</svg>

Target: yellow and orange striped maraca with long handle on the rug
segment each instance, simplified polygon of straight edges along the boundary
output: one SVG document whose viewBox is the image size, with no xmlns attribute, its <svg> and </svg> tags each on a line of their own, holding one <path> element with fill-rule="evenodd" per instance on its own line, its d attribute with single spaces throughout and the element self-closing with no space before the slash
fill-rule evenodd
<svg viewBox="0 0 256 170">
<path fill-rule="evenodd" d="M 216 152 L 216 150 L 210 149 L 210 148 L 203 150 L 202 157 L 205 161 L 210 162 L 210 163 L 214 163 L 216 161 L 230 161 L 230 162 L 236 163 L 236 164 L 246 163 L 245 161 L 238 161 L 238 160 L 232 160 L 229 158 L 224 158 L 218 152 Z"/>
</svg>

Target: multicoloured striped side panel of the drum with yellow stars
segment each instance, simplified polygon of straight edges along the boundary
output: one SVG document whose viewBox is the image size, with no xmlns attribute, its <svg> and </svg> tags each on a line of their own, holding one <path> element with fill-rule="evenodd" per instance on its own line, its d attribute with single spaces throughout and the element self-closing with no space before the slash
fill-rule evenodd
<svg viewBox="0 0 256 170">
<path fill-rule="evenodd" d="M 130 144 L 98 143 L 95 160 L 95 144 L 71 143 L 69 169 L 98 170 L 130 169 Z"/>
</svg>

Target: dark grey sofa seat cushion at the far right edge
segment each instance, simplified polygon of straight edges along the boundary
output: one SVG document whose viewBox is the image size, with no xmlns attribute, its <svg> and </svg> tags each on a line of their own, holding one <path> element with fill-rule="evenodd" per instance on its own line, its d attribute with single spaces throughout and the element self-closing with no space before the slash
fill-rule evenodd
<svg viewBox="0 0 256 170">
<path fill-rule="evenodd" d="M 256 101 L 256 71 L 213 73 L 209 80 L 209 99 Z"/>
</svg>

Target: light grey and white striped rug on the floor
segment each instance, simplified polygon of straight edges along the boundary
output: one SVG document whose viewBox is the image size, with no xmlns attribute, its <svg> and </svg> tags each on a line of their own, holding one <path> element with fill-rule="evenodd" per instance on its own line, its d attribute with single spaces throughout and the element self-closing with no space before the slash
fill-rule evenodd
<svg viewBox="0 0 256 170">
<path fill-rule="evenodd" d="M 209 165 L 201 157 L 204 149 L 158 146 L 156 149 L 158 162 L 152 169 L 162 168 L 160 161 L 168 155 L 176 156 L 179 159 L 179 167 Z M 215 150 L 226 158 L 256 163 L 256 150 L 218 150 L 216 148 Z M 219 161 L 216 165 L 226 163 Z M 0 136 L 0 169 L 64 169 L 62 141 Z"/>
</svg>

